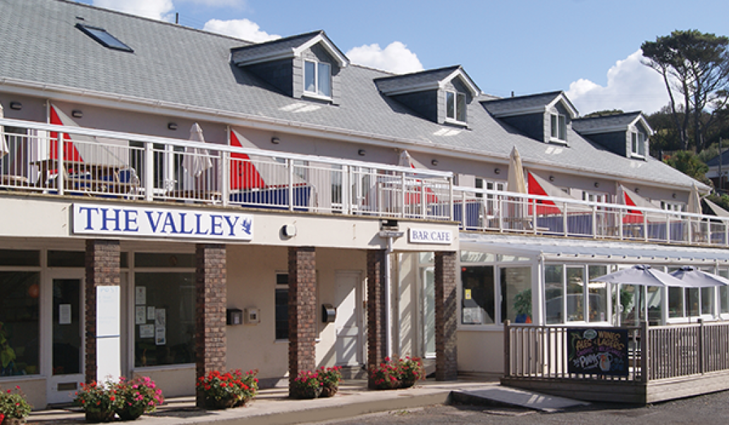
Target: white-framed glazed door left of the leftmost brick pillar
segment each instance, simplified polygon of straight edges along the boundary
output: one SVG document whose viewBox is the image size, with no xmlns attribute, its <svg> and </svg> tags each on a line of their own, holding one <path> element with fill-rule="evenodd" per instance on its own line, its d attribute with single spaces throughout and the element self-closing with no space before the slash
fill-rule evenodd
<svg viewBox="0 0 729 425">
<path fill-rule="evenodd" d="M 52 271 L 51 345 L 47 356 L 49 403 L 70 403 L 84 381 L 83 271 Z"/>
</svg>

